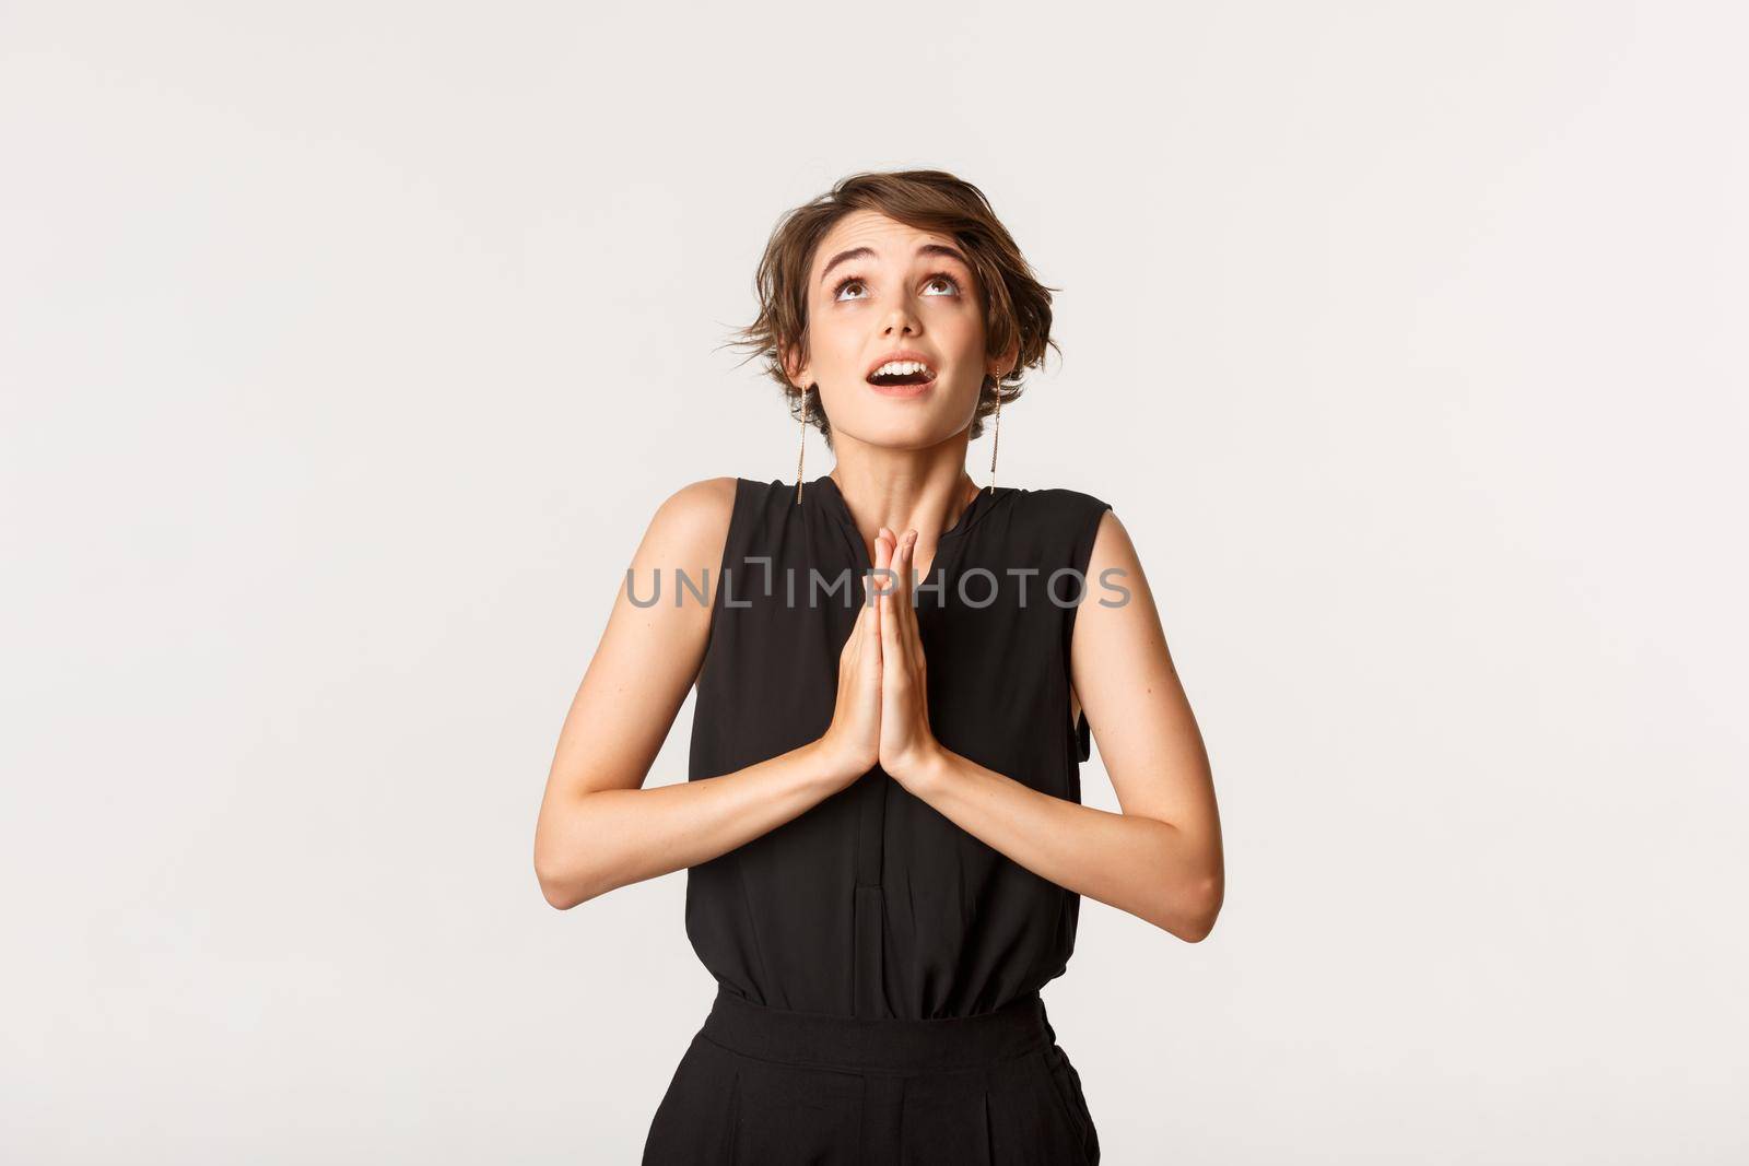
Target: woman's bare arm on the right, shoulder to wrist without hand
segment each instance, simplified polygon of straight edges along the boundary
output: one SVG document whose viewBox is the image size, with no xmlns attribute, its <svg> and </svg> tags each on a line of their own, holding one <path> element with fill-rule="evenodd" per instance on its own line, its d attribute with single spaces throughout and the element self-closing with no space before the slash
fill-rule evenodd
<svg viewBox="0 0 1749 1166">
<path fill-rule="evenodd" d="M 1102 584 L 1130 591 L 1126 603 Z M 1214 778 L 1167 650 L 1153 593 L 1118 516 L 1105 512 L 1070 645 L 1076 696 L 1123 813 L 1042 794 L 936 746 L 911 790 L 1034 874 L 1198 942 L 1226 888 Z"/>
</svg>

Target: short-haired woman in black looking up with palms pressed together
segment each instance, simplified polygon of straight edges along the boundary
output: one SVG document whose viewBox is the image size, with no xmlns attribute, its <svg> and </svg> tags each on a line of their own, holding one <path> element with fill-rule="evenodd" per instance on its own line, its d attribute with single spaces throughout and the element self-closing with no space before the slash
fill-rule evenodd
<svg viewBox="0 0 1749 1166">
<path fill-rule="evenodd" d="M 687 869 L 717 995 L 644 1161 L 1098 1163 L 1039 988 L 1081 895 L 1196 942 L 1224 871 L 1123 524 L 997 486 L 995 437 L 988 488 L 964 468 L 1042 364 L 1049 290 L 941 171 L 791 212 L 757 287 L 740 339 L 836 467 L 658 509 L 535 832 L 556 907 Z M 691 780 L 640 788 L 694 682 Z M 1090 725 L 1123 813 L 1079 804 Z"/>
</svg>

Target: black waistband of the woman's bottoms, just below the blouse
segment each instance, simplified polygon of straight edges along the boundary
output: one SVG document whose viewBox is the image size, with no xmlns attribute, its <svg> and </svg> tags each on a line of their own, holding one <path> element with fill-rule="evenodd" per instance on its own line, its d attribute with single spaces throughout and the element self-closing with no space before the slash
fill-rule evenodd
<svg viewBox="0 0 1749 1166">
<path fill-rule="evenodd" d="M 764 1061 L 852 1072 L 972 1068 L 1055 1040 L 1037 991 L 993 1012 L 915 1021 L 773 1009 L 721 982 L 700 1035 Z"/>
</svg>

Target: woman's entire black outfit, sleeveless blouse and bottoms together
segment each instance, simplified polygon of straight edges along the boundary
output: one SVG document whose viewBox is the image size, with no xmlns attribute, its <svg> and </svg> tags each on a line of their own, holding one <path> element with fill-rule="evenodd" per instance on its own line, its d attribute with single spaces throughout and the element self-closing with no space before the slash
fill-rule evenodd
<svg viewBox="0 0 1749 1166">
<path fill-rule="evenodd" d="M 1074 489 L 985 488 L 916 587 L 936 739 L 1069 801 L 1090 755 L 1086 718 L 1070 718 L 1070 633 L 1081 601 L 1116 601 L 1086 579 L 1105 509 Z M 829 475 L 799 503 L 794 482 L 736 479 L 691 780 L 826 732 L 869 568 Z M 1074 951 L 1079 902 L 878 766 L 691 867 L 686 930 L 717 1002 L 645 1163 L 1097 1163 L 1079 1075 L 1039 998 Z M 789 1103 L 764 1112 L 778 1066 Z M 798 1091 L 803 1112 L 836 1115 L 812 1140 Z"/>
</svg>

